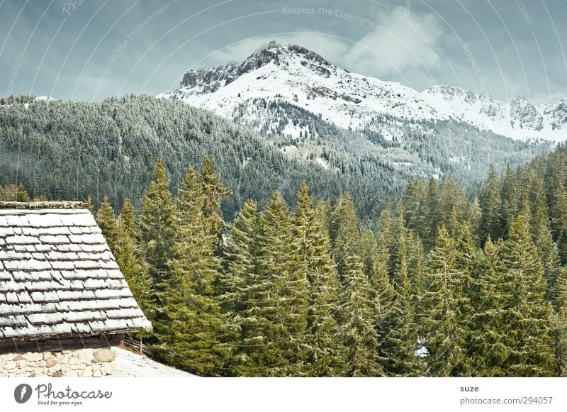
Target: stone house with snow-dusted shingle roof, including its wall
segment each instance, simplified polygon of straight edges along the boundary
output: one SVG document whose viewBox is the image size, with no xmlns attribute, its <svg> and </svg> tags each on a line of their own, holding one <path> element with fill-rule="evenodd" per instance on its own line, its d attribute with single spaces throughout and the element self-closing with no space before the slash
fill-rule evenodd
<svg viewBox="0 0 567 412">
<path fill-rule="evenodd" d="M 84 206 L 0 202 L 0 377 L 110 375 L 151 328 Z"/>
</svg>

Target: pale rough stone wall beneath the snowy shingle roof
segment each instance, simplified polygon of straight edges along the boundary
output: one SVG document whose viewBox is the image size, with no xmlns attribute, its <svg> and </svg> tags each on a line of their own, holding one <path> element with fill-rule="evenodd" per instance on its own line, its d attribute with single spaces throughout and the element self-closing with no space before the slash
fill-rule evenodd
<svg viewBox="0 0 567 412">
<path fill-rule="evenodd" d="M 103 377 L 113 373 L 108 348 L 0 355 L 0 377 Z"/>
</svg>

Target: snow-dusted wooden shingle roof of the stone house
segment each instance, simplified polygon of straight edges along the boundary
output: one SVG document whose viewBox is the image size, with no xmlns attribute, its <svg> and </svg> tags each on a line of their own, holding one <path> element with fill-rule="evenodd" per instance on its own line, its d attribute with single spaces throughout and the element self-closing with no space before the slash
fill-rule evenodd
<svg viewBox="0 0 567 412">
<path fill-rule="evenodd" d="M 150 329 L 79 202 L 0 202 L 0 342 Z"/>
</svg>

